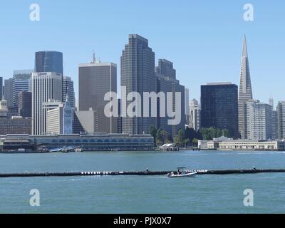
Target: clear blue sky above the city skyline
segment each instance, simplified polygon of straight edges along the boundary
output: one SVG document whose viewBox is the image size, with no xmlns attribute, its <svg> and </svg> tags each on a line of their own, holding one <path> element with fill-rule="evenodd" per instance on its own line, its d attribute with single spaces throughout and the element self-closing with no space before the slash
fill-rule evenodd
<svg viewBox="0 0 285 228">
<path fill-rule="evenodd" d="M 29 6 L 41 20 L 29 20 Z M 244 4 L 254 21 L 244 21 Z M 149 40 L 155 58 L 174 63 L 177 78 L 199 99 L 207 82 L 239 84 L 242 36 L 247 35 L 254 98 L 285 100 L 285 1 L 191 0 L 1 0 L 0 76 L 33 68 L 36 51 L 62 51 L 64 72 L 78 90 L 78 63 L 92 50 L 118 64 L 129 33 Z"/>
</svg>

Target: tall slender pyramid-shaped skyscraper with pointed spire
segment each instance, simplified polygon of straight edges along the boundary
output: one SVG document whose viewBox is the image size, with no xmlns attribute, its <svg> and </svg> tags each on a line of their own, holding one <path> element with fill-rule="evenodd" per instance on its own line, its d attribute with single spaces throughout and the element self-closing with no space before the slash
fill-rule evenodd
<svg viewBox="0 0 285 228">
<path fill-rule="evenodd" d="M 249 58 L 247 55 L 247 40 L 244 36 L 242 46 L 242 68 L 239 84 L 239 134 L 247 138 L 247 101 L 252 100 L 252 83 L 250 80 Z"/>
</svg>

